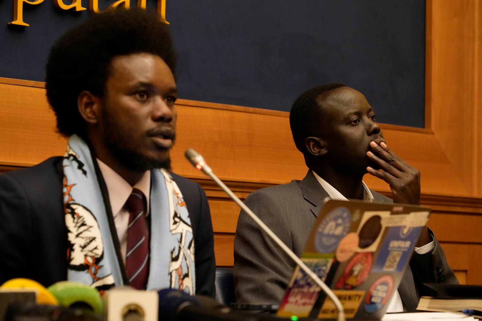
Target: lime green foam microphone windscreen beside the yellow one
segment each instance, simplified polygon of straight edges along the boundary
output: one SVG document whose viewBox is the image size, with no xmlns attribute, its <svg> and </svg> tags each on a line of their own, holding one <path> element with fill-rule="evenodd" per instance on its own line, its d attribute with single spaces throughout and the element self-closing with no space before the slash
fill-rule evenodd
<svg viewBox="0 0 482 321">
<path fill-rule="evenodd" d="M 87 284 L 61 281 L 52 284 L 47 290 L 57 298 L 61 306 L 91 309 L 99 315 L 104 312 L 99 291 Z"/>
</svg>

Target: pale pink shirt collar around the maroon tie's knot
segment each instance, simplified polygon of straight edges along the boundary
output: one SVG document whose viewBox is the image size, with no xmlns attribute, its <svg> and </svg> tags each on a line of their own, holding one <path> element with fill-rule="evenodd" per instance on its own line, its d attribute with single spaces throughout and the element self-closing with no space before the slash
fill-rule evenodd
<svg viewBox="0 0 482 321">
<path fill-rule="evenodd" d="M 126 180 L 122 178 L 115 170 L 108 167 L 100 159 L 97 158 L 100 171 L 106 182 L 107 192 L 109 193 L 110 208 L 114 218 L 119 214 L 122 207 L 127 202 L 127 199 L 134 188 L 139 189 L 146 196 L 147 200 L 147 214 L 149 214 L 149 194 L 150 194 L 150 171 L 147 170 L 142 178 L 131 186 Z"/>
</svg>

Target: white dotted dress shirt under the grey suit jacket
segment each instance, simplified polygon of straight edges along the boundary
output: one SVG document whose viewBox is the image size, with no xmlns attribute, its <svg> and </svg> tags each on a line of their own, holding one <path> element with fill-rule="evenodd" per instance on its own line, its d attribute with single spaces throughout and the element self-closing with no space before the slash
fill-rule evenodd
<svg viewBox="0 0 482 321">
<path fill-rule="evenodd" d="M 348 201 L 348 199 L 342 195 L 342 193 L 338 192 L 333 186 L 331 186 L 326 180 L 323 180 L 318 174 L 316 174 L 314 171 L 313 175 L 315 175 L 316 179 L 320 182 L 321 187 L 330 195 L 330 197 L 334 200 L 341 200 L 341 201 Z M 375 198 L 372 195 L 372 192 L 370 189 L 366 186 L 365 182 L 362 181 L 363 185 L 363 200 L 366 202 L 373 202 L 375 201 Z M 415 247 L 415 252 L 418 254 L 425 254 L 433 250 L 435 247 L 435 242 L 432 240 L 432 242 L 425 244 L 422 247 Z M 403 303 L 402 303 L 402 298 L 400 297 L 400 293 L 395 292 L 393 295 L 390 305 L 387 308 L 388 313 L 394 313 L 394 312 L 403 312 Z"/>
</svg>

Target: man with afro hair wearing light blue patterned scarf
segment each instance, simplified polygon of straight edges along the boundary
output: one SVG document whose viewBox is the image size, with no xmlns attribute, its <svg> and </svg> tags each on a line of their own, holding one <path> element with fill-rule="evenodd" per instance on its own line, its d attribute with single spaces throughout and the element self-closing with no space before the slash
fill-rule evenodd
<svg viewBox="0 0 482 321">
<path fill-rule="evenodd" d="M 0 284 L 214 296 L 206 195 L 170 171 L 176 54 L 157 13 L 91 15 L 52 47 L 47 99 L 64 156 L 0 175 Z"/>
</svg>

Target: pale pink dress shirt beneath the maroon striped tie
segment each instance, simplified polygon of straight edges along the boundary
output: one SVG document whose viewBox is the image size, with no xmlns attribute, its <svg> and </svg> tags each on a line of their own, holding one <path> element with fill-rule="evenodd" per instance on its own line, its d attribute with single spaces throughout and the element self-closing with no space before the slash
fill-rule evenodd
<svg viewBox="0 0 482 321">
<path fill-rule="evenodd" d="M 129 225 L 129 211 L 125 207 L 125 202 L 131 195 L 134 188 L 140 190 L 146 196 L 147 210 L 146 216 L 149 215 L 149 194 L 150 194 L 150 171 L 147 170 L 142 178 L 131 186 L 126 180 L 122 178 L 116 171 L 108 167 L 101 160 L 97 159 L 100 171 L 104 177 L 107 186 L 107 193 L 109 193 L 110 208 L 114 216 L 114 223 L 116 225 L 117 237 L 120 243 L 120 254 L 122 261 L 125 264 L 125 252 L 127 249 L 127 226 Z"/>
</svg>

